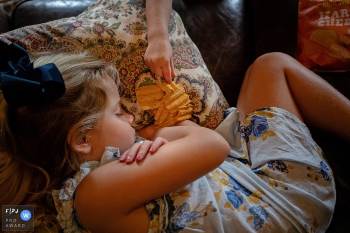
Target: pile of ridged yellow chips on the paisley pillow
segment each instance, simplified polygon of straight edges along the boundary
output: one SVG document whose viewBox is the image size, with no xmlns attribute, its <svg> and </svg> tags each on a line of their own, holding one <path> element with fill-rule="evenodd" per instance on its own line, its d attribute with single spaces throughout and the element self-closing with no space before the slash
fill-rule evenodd
<svg viewBox="0 0 350 233">
<path fill-rule="evenodd" d="M 174 82 L 144 86 L 135 89 L 136 99 L 142 110 L 151 109 L 156 130 L 173 126 L 176 122 L 190 119 L 193 106 L 183 87 Z"/>
</svg>

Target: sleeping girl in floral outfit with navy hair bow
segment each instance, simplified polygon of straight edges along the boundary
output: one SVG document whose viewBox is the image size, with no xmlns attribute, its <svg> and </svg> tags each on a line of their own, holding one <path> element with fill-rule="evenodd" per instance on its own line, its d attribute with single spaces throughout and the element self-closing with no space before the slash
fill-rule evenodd
<svg viewBox="0 0 350 233">
<path fill-rule="evenodd" d="M 19 46 L 4 47 L 17 56 L 1 61 L 0 204 L 34 205 L 35 232 L 325 232 L 330 224 L 332 172 L 304 122 L 350 141 L 350 101 L 288 55 L 256 59 L 215 131 L 187 120 L 137 135 L 108 63 L 86 51 L 47 52 L 31 55 L 32 67 Z M 25 96 L 4 80 L 41 88 Z"/>
</svg>

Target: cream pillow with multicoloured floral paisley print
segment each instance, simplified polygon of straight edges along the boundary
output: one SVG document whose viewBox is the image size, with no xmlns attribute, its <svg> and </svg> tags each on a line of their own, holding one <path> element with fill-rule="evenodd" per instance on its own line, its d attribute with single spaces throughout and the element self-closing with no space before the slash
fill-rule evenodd
<svg viewBox="0 0 350 233">
<path fill-rule="evenodd" d="M 118 69 L 122 108 L 135 116 L 132 126 L 141 129 L 154 123 L 151 110 L 141 111 L 135 88 L 158 84 L 144 62 L 147 48 L 145 0 L 99 0 L 76 17 L 25 26 L 0 35 L 29 52 L 59 44 L 70 49 L 86 49 Z M 197 124 L 216 128 L 228 104 L 207 70 L 200 52 L 188 37 L 179 15 L 172 10 L 168 22 L 173 64 L 181 84 L 194 106 Z"/>
</svg>

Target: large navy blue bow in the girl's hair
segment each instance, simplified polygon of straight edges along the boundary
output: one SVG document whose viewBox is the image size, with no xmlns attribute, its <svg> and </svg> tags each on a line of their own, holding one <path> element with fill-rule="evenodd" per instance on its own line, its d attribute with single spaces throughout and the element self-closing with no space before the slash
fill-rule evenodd
<svg viewBox="0 0 350 233">
<path fill-rule="evenodd" d="M 28 53 L 17 44 L 0 41 L 1 92 L 9 106 L 43 105 L 62 96 L 65 85 L 53 63 L 33 68 Z"/>
</svg>

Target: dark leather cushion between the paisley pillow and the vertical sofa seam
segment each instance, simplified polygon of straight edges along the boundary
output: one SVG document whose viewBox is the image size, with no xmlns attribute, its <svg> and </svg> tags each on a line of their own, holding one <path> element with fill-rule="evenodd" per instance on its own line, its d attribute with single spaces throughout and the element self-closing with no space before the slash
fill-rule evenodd
<svg viewBox="0 0 350 233">
<path fill-rule="evenodd" d="M 251 5 L 243 0 L 174 0 L 188 35 L 230 106 L 252 62 Z"/>
</svg>

